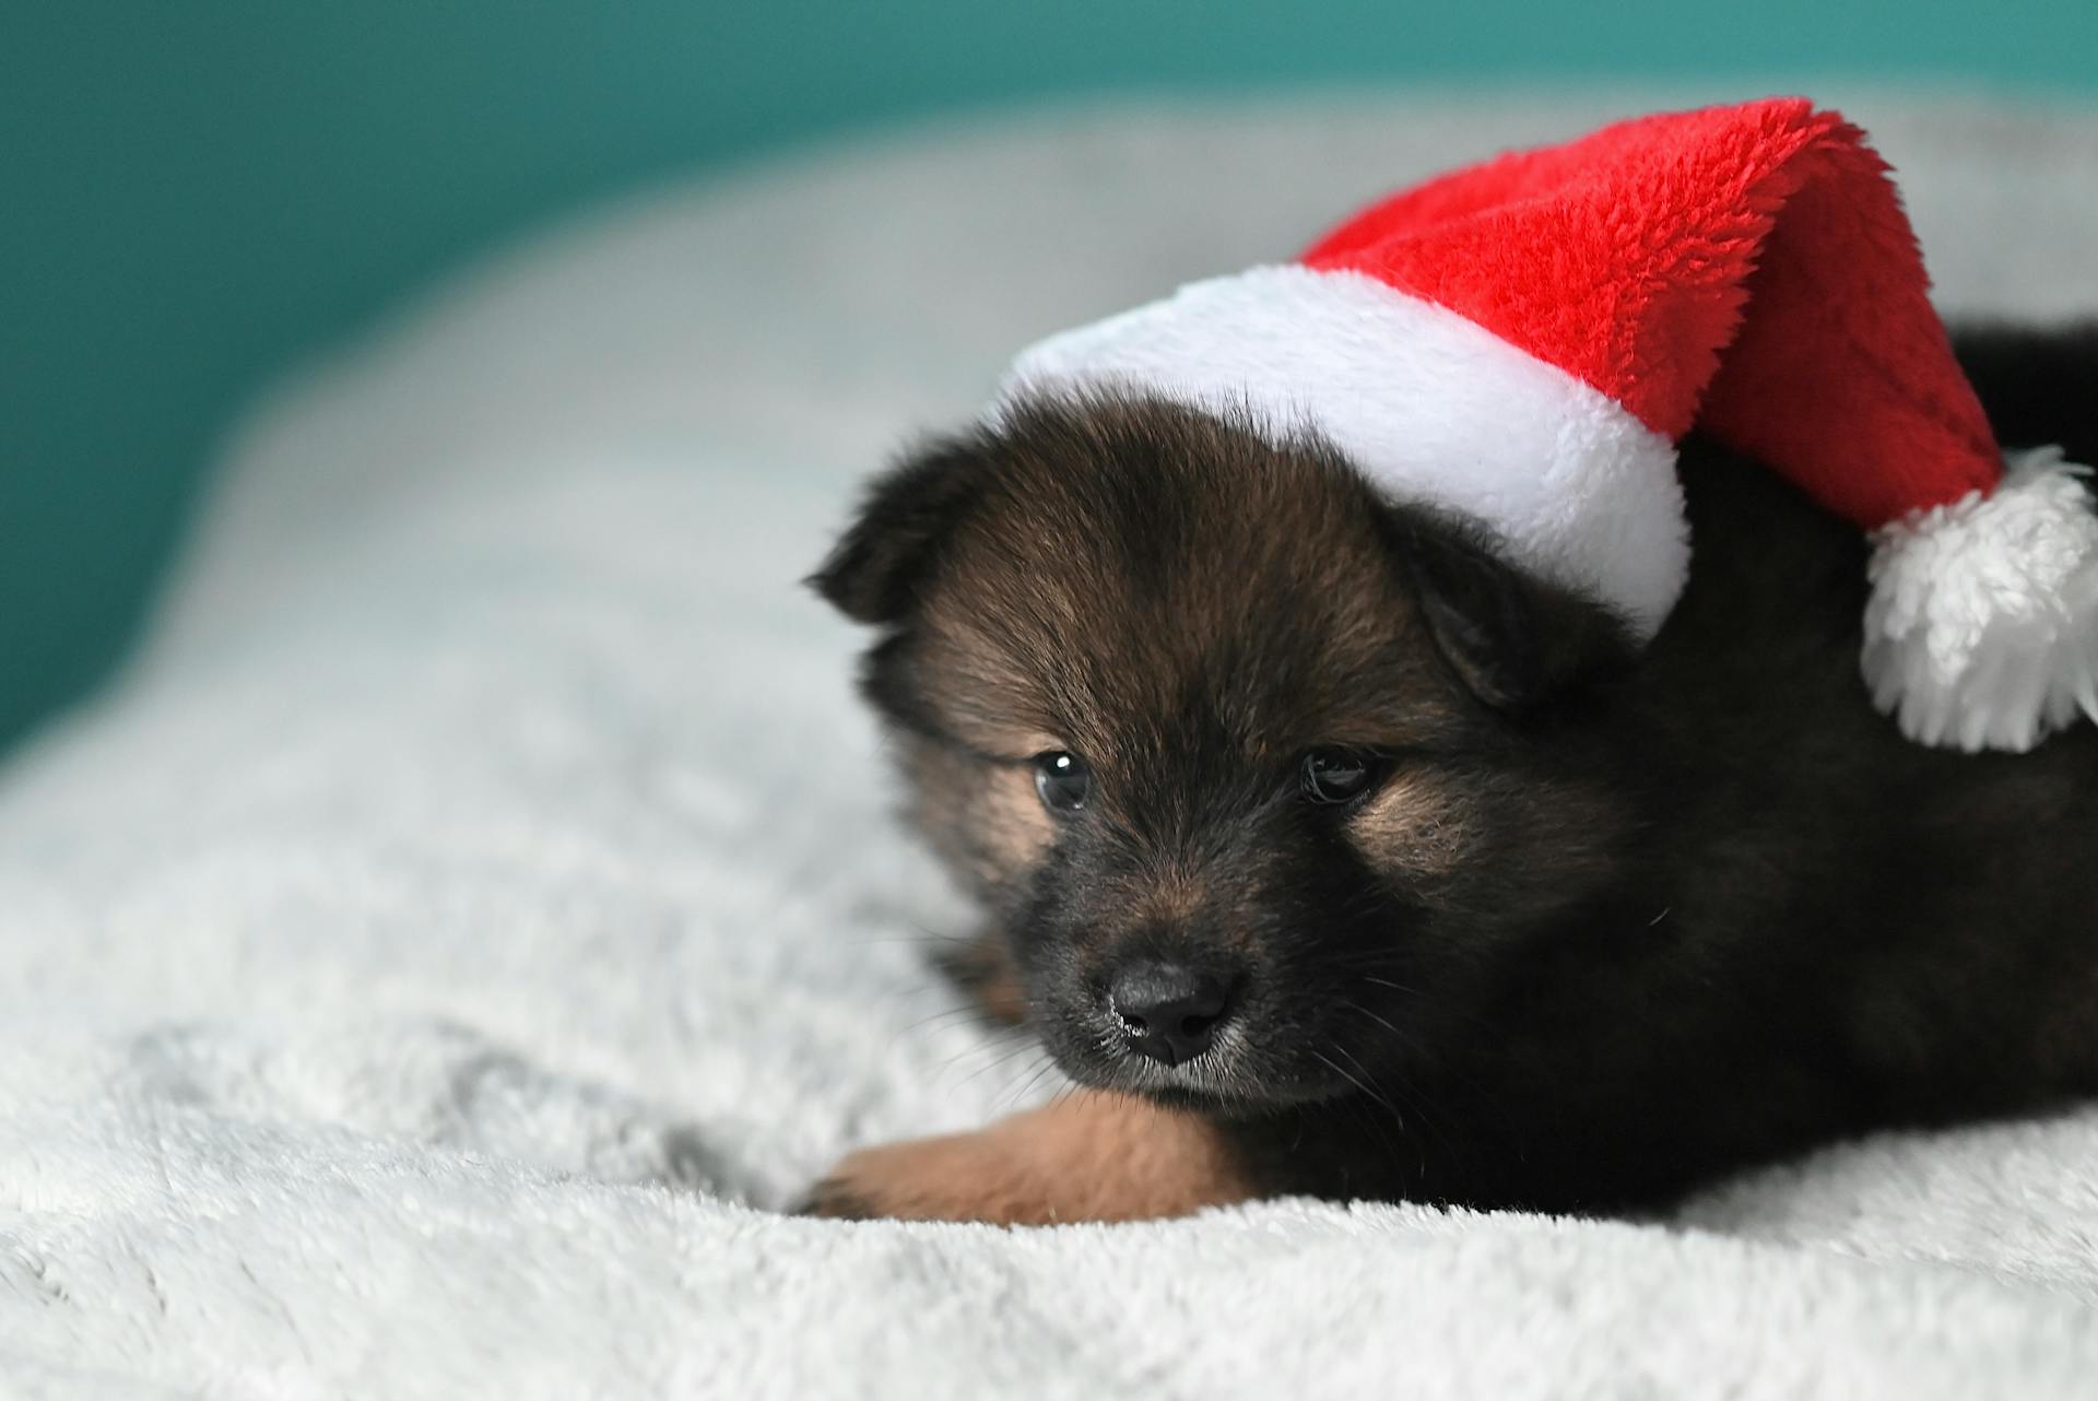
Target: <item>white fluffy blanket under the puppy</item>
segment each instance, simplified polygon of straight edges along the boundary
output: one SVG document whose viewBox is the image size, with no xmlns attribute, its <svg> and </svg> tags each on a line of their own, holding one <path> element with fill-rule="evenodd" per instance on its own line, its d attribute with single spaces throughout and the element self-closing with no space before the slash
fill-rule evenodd
<svg viewBox="0 0 2098 1401">
<path fill-rule="evenodd" d="M 967 914 L 795 587 L 854 480 L 1041 331 L 1651 101 L 833 151 L 543 239 L 279 394 L 145 661 L 0 782 L 0 1393 L 2092 1395 L 2098 1112 L 1651 1225 L 772 1214 L 1043 1093 L 942 1015 Z M 2098 308 L 2098 117 L 1850 107 L 1949 306 Z"/>
</svg>

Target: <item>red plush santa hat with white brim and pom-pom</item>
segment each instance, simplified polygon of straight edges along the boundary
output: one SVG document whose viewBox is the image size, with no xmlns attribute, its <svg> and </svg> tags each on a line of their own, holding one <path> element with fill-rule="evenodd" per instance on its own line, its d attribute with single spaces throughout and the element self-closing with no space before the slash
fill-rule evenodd
<svg viewBox="0 0 2098 1401">
<path fill-rule="evenodd" d="M 1001 401 L 1122 388 L 1315 432 L 1651 638 L 1695 424 L 1871 533 L 1863 669 L 1928 745 L 2098 717 L 2083 468 L 1997 447 L 1863 134 L 1800 99 L 1664 113 L 1383 199 L 1294 262 L 1026 350 Z"/>
</svg>

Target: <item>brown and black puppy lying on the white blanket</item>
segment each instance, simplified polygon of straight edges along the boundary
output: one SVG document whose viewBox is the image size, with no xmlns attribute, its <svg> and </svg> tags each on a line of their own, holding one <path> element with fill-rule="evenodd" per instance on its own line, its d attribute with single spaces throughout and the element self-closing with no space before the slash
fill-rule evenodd
<svg viewBox="0 0 2098 1401">
<path fill-rule="evenodd" d="M 2006 443 L 2098 459 L 2098 329 L 1964 357 Z M 1643 652 L 1334 451 L 1179 407 L 1036 403 L 881 478 L 816 585 L 881 629 L 978 979 L 1089 1091 L 856 1154 L 814 1210 L 1628 1210 L 2098 1091 L 2098 728 L 1907 742 L 1859 533 L 1708 443 L 1683 476 Z"/>
</svg>

